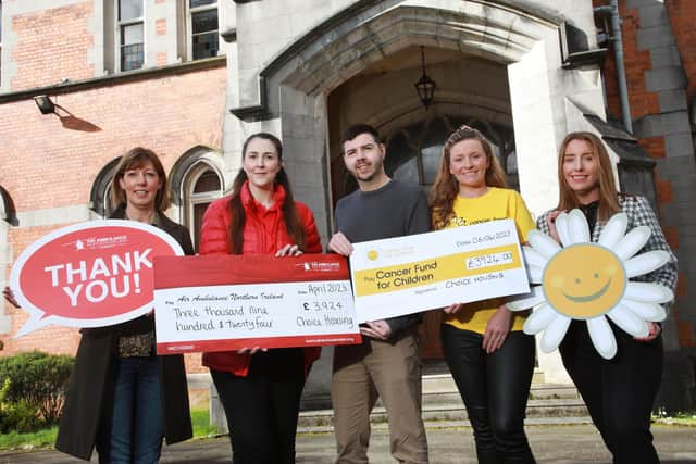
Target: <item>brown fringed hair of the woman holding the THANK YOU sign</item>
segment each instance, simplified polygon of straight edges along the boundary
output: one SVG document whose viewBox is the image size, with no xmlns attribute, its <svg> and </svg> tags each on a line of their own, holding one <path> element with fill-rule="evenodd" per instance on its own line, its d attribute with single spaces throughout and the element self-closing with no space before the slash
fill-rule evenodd
<svg viewBox="0 0 696 464">
<path fill-rule="evenodd" d="M 116 172 L 113 175 L 111 183 L 111 206 L 116 209 L 126 204 L 126 193 L 121 188 L 119 180 L 123 178 L 126 171 L 137 170 L 146 164 L 152 164 L 158 177 L 162 180 L 162 187 L 157 191 L 154 196 L 154 210 L 158 212 L 166 211 L 170 208 L 170 196 L 166 184 L 166 174 L 164 173 L 164 166 L 154 152 L 148 148 L 136 147 L 130 150 L 119 161 L 116 165 Z"/>
</svg>

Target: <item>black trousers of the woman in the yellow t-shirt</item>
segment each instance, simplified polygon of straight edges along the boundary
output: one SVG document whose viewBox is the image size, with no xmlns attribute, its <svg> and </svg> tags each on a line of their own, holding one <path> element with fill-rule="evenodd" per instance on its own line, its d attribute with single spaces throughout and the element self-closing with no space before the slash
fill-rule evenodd
<svg viewBox="0 0 696 464">
<path fill-rule="evenodd" d="M 534 337 L 511 331 L 502 347 L 490 354 L 482 348 L 481 334 L 443 324 L 440 337 L 474 429 L 478 463 L 535 463 L 524 434 Z"/>
</svg>

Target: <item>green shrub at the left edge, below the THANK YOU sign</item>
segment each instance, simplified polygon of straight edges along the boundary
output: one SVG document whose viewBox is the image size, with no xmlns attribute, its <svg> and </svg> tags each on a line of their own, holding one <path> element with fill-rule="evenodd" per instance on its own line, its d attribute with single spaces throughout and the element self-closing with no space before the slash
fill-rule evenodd
<svg viewBox="0 0 696 464">
<path fill-rule="evenodd" d="M 0 380 L 10 379 L 5 401 L 25 403 L 48 424 L 54 424 L 63 411 L 65 390 L 74 359 L 32 351 L 0 358 Z"/>
</svg>

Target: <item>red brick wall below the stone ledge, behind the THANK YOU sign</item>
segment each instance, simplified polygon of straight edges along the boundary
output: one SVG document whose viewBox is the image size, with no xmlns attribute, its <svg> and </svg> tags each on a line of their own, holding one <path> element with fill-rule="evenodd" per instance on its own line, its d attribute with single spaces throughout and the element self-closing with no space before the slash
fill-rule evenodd
<svg viewBox="0 0 696 464">
<path fill-rule="evenodd" d="M 160 154 L 169 173 L 188 149 L 220 147 L 225 73 L 221 63 L 207 71 L 59 96 L 58 104 L 72 113 L 72 120 L 41 115 L 30 99 L 0 104 L 0 185 L 12 197 L 17 213 L 85 205 L 100 170 L 138 145 Z M 51 229 L 10 228 L 14 258 Z M 11 334 L 2 336 L 2 354 L 30 349 L 75 352 L 79 337 L 73 329 L 47 327 L 13 340 L 26 315 L 9 306 L 5 313 L 12 314 L 13 321 Z M 199 358 L 192 356 L 191 372 L 197 369 Z"/>
</svg>

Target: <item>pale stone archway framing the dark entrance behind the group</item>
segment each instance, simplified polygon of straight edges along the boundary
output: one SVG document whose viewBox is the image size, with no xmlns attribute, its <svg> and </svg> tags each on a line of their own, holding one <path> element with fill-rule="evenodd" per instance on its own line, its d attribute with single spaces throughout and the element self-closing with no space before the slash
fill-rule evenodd
<svg viewBox="0 0 696 464">
<path fill-rule="evenodd" d="M 333 90 L 409 47 L 425 46 L 482 59 L 508 68 L 515 133 L 518 125 L 523 129 L 531 126 L 523 130 L 524 139 L 517 139 L 520 156 L 534 154 L 539 148 L 554 153 L 564 131 L 564 126 L 558 128 L 557 123 L 566 117 L 564 96 L 555 95 L 556 84 L 549 81 L 551 71 L 561 65 L 558 34 L 562 21 L 505 1 L 359 2 L 289 45 L 259 73 L 258 96 L 250 100 L 246 97 L 243 102 L 247 106 L 233 113 L 247 121 L 279 123 L 285 149 L 293 153 L 286 165 L 298 198 L 315 212 L 326 236 L 332 204 L 327 96 Z M 519 90 L 530 81 L 534 83 L 532 90 Z M 601 98 L 600 87 L 596 90 Z M 525 124 L 527 111 L 534 113 L 533 125 Z M 526 184 L 533 196 L 537 193 L 534 190 L 548 190 L 555 185 L 552 161 L 539 168 L 535 160 L 536 165 L 526 173 L 520 164 L 522 189 Z M 539 173 L 546 173 L 548 181 L 525 181 L 525 177 Z M 540 193 L 555 196 L 556 191 Z"/>
</svg>

